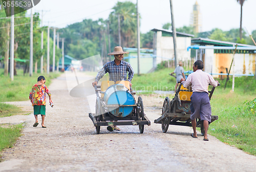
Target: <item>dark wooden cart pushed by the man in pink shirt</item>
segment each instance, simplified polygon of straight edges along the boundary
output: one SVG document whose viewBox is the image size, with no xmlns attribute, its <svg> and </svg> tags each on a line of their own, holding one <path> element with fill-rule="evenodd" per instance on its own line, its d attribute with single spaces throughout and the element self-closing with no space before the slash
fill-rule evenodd
<svg viewBox="0 0 256 172">
<path fill-rule="evenodd" d="M 169 125 L 177 125 L 177 126 L 189 126 L 191 125 L 190 119 L 190 101 L 182 101 L 179 99 L 180 92 L 192 92 L 192 90 L 188 90 L 184 88 L 181 90 L 182 84 L 179 84 L 178 89 L 176 90 L 175 96 L 172 101 L 170 101 L 169 97 L 164 99 L 162 115 L 155 119 L 154 123 L 162 124 L 162 131 L 164 133 L 167 132 Z M 212 87 L 211 91 L 209 91 L 209 100 L 211 99 L 212 93 L 214 93 L 215 87 Z M 190 99 L 189 99 L 190 100 Z M 211 122 L 218 119 L 217 115 L 211 115 Z M 202 135 L 204 134 L 204 126 L 203 121 L 200 118 L 196 119 L 197 127 L 201 128 Z M 210 122 L 210 123 L 211 123 Z"/>
</svg>

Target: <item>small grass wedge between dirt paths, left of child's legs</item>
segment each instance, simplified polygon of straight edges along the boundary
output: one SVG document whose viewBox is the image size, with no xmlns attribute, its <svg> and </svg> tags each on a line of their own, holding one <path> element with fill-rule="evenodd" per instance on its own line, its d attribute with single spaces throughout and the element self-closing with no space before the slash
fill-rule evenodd
<svg viewBox="0 0 256 172">
<path fill-rule="evenodd" d="M 24 114 L 25 112 L 17 106 L 0 103 L 0 117 L 6 117 L 17 114 Z"/>
</svg>

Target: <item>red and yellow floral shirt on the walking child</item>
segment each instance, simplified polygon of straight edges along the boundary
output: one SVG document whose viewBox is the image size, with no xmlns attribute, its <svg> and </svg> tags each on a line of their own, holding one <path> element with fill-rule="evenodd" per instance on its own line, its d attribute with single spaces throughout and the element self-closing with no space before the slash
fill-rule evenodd
<svg viewBox="0 0 256 172">
<path fill-rule="evenodd" d="M 32 106 L 34 105 L 46 105 L 46 93 L 51 96 L 51 93 L 45 84 L 34 85 L 30 91 L 29 99 Z"/>
</svg>

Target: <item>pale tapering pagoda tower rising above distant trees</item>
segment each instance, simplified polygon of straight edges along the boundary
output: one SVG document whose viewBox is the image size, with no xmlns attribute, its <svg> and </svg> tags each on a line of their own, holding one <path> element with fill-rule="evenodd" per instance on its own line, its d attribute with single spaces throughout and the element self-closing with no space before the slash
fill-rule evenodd
<svg viewBox="0 0 256 172">
<path fill-rule="evenodd" d="M 190 26 L 194 28 L 194 33 L 202 32 L 202 16 L 200 6 L 197 1 L 193 6 L 193 12 L 190 16 Z"/>
</svg>

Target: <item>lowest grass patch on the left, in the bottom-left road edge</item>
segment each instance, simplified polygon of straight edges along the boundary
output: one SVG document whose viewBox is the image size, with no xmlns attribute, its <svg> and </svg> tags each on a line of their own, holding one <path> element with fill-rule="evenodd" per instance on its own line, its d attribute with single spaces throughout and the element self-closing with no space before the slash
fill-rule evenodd
<svg viewBox="0 0 256 172">
<path fill-rule="evenodd" d="M 13 143 L 21 136 L 23 124 L 0 126 L 0 152 L 5 148 L 12 148 Z M 1 156 L 1 155 L 0 155 Z M 1 162 L 2 159 L 0 159 Z"/>
</svg>

